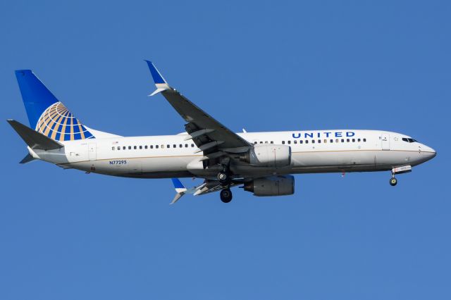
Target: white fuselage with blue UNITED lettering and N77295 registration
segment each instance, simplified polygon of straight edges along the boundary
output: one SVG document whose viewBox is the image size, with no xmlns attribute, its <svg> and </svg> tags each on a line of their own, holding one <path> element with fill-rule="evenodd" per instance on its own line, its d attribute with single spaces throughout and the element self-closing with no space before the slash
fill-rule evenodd
<svg viewBox="0 0 451 300">
<path fill-rule="evenodd" d="M 247 163 L 230 167 L 241 177 L 295 173 L 366 172 L 418 165 L 435 151 L 395 132 L 375 130 L 313 130 L 296 132 L 238 133 L 252 144 L 285 144 L 291 147 L 291 164 L 262 168 Z M 35 158 L 92 173 L 122 177 L 215 177 L 220 169 L 204 169 L 202 151 L 189 135 L 107 137 L 63 142 L 53 151 L 32 151 Z M 404 138 L 404 140 L 403 140 Z M 302 142 L 302 143 L 301 143 Z"/>
</svg>

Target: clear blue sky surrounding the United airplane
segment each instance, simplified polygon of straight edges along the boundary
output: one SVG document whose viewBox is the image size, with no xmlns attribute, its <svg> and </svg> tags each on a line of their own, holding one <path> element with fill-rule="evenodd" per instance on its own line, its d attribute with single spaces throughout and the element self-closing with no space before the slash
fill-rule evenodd
<svg viewBox="0 0 451 300">
<path fill-rule="evenodd" d="M 340 3 L 339 3 L 340 2 Z M 450 299 L 448 1 L 3 1 L 2 120 L 31 68 L 83 123 L 171 135 L 143 59 L 240 131 L 377 129 L 412 173 L 297 175 L 296 194 L 186 196 L 170 180 L 19 165 L 0 125 L 0 299 Z M 191 185 L 192 180 L 183 180 Z"/>
</svg>

